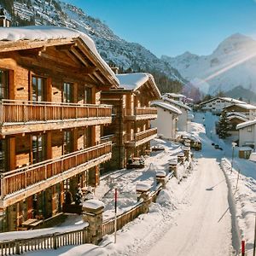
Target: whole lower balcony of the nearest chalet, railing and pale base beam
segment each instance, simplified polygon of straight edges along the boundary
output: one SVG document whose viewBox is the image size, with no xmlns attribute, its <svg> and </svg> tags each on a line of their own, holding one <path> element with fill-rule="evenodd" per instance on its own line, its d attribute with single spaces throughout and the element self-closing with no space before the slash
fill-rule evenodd
<svg viewBox="0 0 256 256">
<path fill-rule="evenodd" d="M 102 143 L 59 158 L 1 173 L 0 208 L 111 159 L 111 143 Z"/>
</svg>

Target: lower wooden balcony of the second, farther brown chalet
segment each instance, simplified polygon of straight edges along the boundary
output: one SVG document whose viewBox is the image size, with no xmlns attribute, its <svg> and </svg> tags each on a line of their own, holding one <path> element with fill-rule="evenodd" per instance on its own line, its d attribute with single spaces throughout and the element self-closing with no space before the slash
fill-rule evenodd
<svg viewBox="0 0 256 256">
<path fill-rule="evenodd" d="M 146 131 L 137 132 L 135 135 L 126 135 L 127 147 L 136 148 L 143 143 L 148 143 L 150 140 L 157 137 L 157 128 L 148 129 Z"/>
</svg>

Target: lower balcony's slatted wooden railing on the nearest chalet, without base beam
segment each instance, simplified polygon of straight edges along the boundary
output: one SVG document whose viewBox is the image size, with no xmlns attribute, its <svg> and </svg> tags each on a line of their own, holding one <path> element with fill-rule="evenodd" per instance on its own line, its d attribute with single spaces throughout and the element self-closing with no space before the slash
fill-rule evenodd
<svg viewBox="0 0 256 256">
<path fill-rule="evenodd" d="M 43 182 L 48 182 L 50 178 L 63 175 L 72 169 L 79 167 L 84 167 L 85 169 L 91 163 L 96 166 L 105 161 L 106 157 L 104 158 L 104 156 L 110 153 L 111 143 L 102 143 L 94 147 L 62 155 L 56 159 L 45 160 L 38 164 L 21 167 L 10 172 L 3 172 L 1 173 L 1 197 L 3 198 L 5 195 L 27 189 L 38 183 L 42 185 Z"/>
</svg>

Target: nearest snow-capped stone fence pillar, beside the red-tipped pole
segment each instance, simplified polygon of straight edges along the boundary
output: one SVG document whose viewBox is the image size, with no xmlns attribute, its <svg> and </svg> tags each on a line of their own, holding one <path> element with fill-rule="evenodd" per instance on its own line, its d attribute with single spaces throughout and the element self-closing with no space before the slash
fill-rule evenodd
<svg viewBox="0 0 256 256">
<path fill-rule="evenodd" d="M 90 199 L 83 204 L 83 220 L 89 223 L 87 228 L 87 241 L 98 244 L 102 241 L 102 213 L 104 205 L 102 201 Z"/>
</svg>

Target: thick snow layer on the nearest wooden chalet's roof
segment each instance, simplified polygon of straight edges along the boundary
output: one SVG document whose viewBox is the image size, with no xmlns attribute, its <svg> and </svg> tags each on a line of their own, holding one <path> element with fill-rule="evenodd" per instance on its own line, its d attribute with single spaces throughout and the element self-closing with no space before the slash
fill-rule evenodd
<svg viewBox="0 0 256 256">
<path fill-rule="evenodd" d="M 112 69 L 99 55 L 94 41 L 84 34 L 72 28 L 61 26 L 14 26 L 14 27 L 0 27 L 0 51 L 5 49 L 7 42 L 20 42 L 20 41 L 49 41 L 56 39 L 75 39 L 80 38 L 84 44 L 90 49 L 96 59 L 108 70 L 113 79 L 119 84 L 119 80 L 116 78 Z"/>
</svg>

